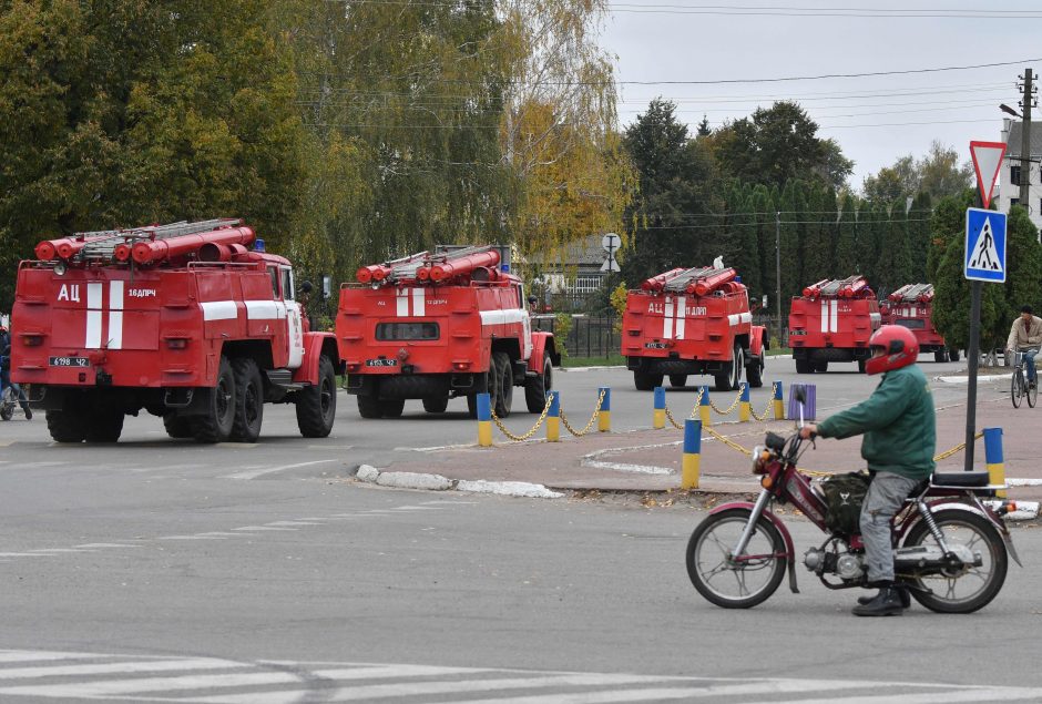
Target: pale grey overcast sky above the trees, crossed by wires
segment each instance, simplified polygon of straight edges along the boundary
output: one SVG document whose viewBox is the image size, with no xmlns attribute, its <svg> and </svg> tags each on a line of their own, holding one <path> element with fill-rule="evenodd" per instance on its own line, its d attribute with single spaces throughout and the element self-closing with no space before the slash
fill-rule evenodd
<svg viewBox="0 0 1042 704">
<path fill-rule="evenodd" d="M 966 14 L 975 17 L 957 17 Z M 600 43 L 616 60 L 621 125 L 660 95 L 677 104 L 692 133 L 703 114 L 717 126 L 796 100 L 820 125 L 819 136 L 836 139 L 855 161 L 850 185 L 859 190 L 866 175 L 923 155 L 934 139 L 962 161 L 971 140 L 999 140 L 998 105 L 1018 108 L 1018 76 L 1042 69 L 1042 1 L 611 0 Z M 752 82 L 1001 62 L 1014 63 Z M 1033 121 L 1040 119 L 1036 111 Z"/>
</svg>

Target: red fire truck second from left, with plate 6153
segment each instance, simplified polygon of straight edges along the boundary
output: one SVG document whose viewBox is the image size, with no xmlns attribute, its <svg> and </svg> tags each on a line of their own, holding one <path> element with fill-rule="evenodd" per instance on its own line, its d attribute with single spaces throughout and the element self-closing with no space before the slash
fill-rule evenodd
<svg viewBox="0 0 1042 704">
<path fill-rule="evenodd" d="M 337 340 L 362 418 L 397 418 L 406 399 L 440 414 L 460 396 L 473 417 L 486 391 L 505 418 L 515 386 L 542 412 L 561 357 L 551 333 L 532 330 L 521 279 L 502 271 L 509 254 L 441 246 L 364 266 L 341 285 Z"/>
</svg>

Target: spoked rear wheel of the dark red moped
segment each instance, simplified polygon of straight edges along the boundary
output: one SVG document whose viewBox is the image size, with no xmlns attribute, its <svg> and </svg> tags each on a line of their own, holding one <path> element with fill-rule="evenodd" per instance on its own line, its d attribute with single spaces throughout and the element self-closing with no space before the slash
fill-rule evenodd
<svg viewBox="0 0 1042 704">
<path fill-rule="evenodd" d="M 970 552 L 980 553 L 981 564 L 906 577 L 905 581 L 930 590 L 929 593 L 911 590 L 911 595 L 927 609 L 941 613 L 971 613 L 984 608 L 1005 582 L 1009 557 L 1002 535 L 987 518 L 968 510 L 938 511 L 933 520 L 949 548 L 964 545 Z M 937 545 L 924 520 L 908 531 L 903 547 L 913 545 Z"/>
</svg>

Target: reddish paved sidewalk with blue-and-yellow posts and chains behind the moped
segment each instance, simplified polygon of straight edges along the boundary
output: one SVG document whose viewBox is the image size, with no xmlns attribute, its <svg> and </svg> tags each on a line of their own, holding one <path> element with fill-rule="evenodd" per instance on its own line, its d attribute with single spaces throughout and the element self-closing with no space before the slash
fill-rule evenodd
<svg viewBox="0 0 1042 704">
<path fill-rule="evenodd" d="M 1025 404 L 1014 409 L 1008 396 L 993 394 L 984 394 L 982 399 L 978 401 L 977 428 L 1003 429 L 1007 478 L 1034 482 L 1034 486 L 1013 486 L 1010 498 L 1042 500 L 1042 466 L 1039 461 L 1042 443 L 1038 435 L 1042 429 L 1042 407 L 1033 409 Z M 794 422 L 726 422 L 714 425 L 713 429 L 752 449 L 763 442 L 767 430 L 791 433 Z M 937 431 L 938 452 L 962 442 L 966 435 L 964 402 L 938 409 Z M 380 469 L 437 473 L 452 480 L 531 482 L 561 490 L 664 491 L 680 487 L 683 433 L 668 422 L 664 430 L 593 431 L 582 438 L 574 438 L 562 428 L 561 436 L 560 442 L 510 442 L 493 428 L 494 447 L 474 445 L 427 449 L 416 460 Z M 800 466 L 837 472 L 862 469 L 860 442 L 859 437 L 818 440 L 816 448 L 808 446 Z M 946 471 L 961 471 L 963 462 L 963 453 L 958 452 L 939 461 L 938 466 Z M 975 445 L 974 465 L 984 469 L 982 439 Z M 706 433 L 702 439 L 701 466 L 702 491 L 734 493 L 758 489 L 756 479 L 749 473 L 749 458 Z"/>
</svg>

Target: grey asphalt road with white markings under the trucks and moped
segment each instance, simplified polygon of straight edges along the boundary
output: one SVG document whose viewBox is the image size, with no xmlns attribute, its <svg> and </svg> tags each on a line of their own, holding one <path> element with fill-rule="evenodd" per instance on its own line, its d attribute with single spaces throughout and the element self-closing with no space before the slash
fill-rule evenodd
<svg viewBox="0 0 1042 704">
<path fill-rule="evenodd" d="M 823 407 L 874 384 L 814 380 Z M 622 370 L 558 375 L 566 408 L 605 382 L 616 428 L 651 424 Z M 1042 701 L 1038 530 L 1014 531 L 1026 567 L 977 614 L 855 619 L 857 594 L 803 568 L 800 594 L 726 611 L 684 569 L 702 512 L 357 483 L 360 462 L 474 430 L 461 408 L 362 421 L 350 400 L 320 441 L 272 407 L 255 446 L 147 417 L 96 447 L 0 424 L 0 701 Z M 787 520 L 797 553 L 820 542 Z"/>
</svg>

